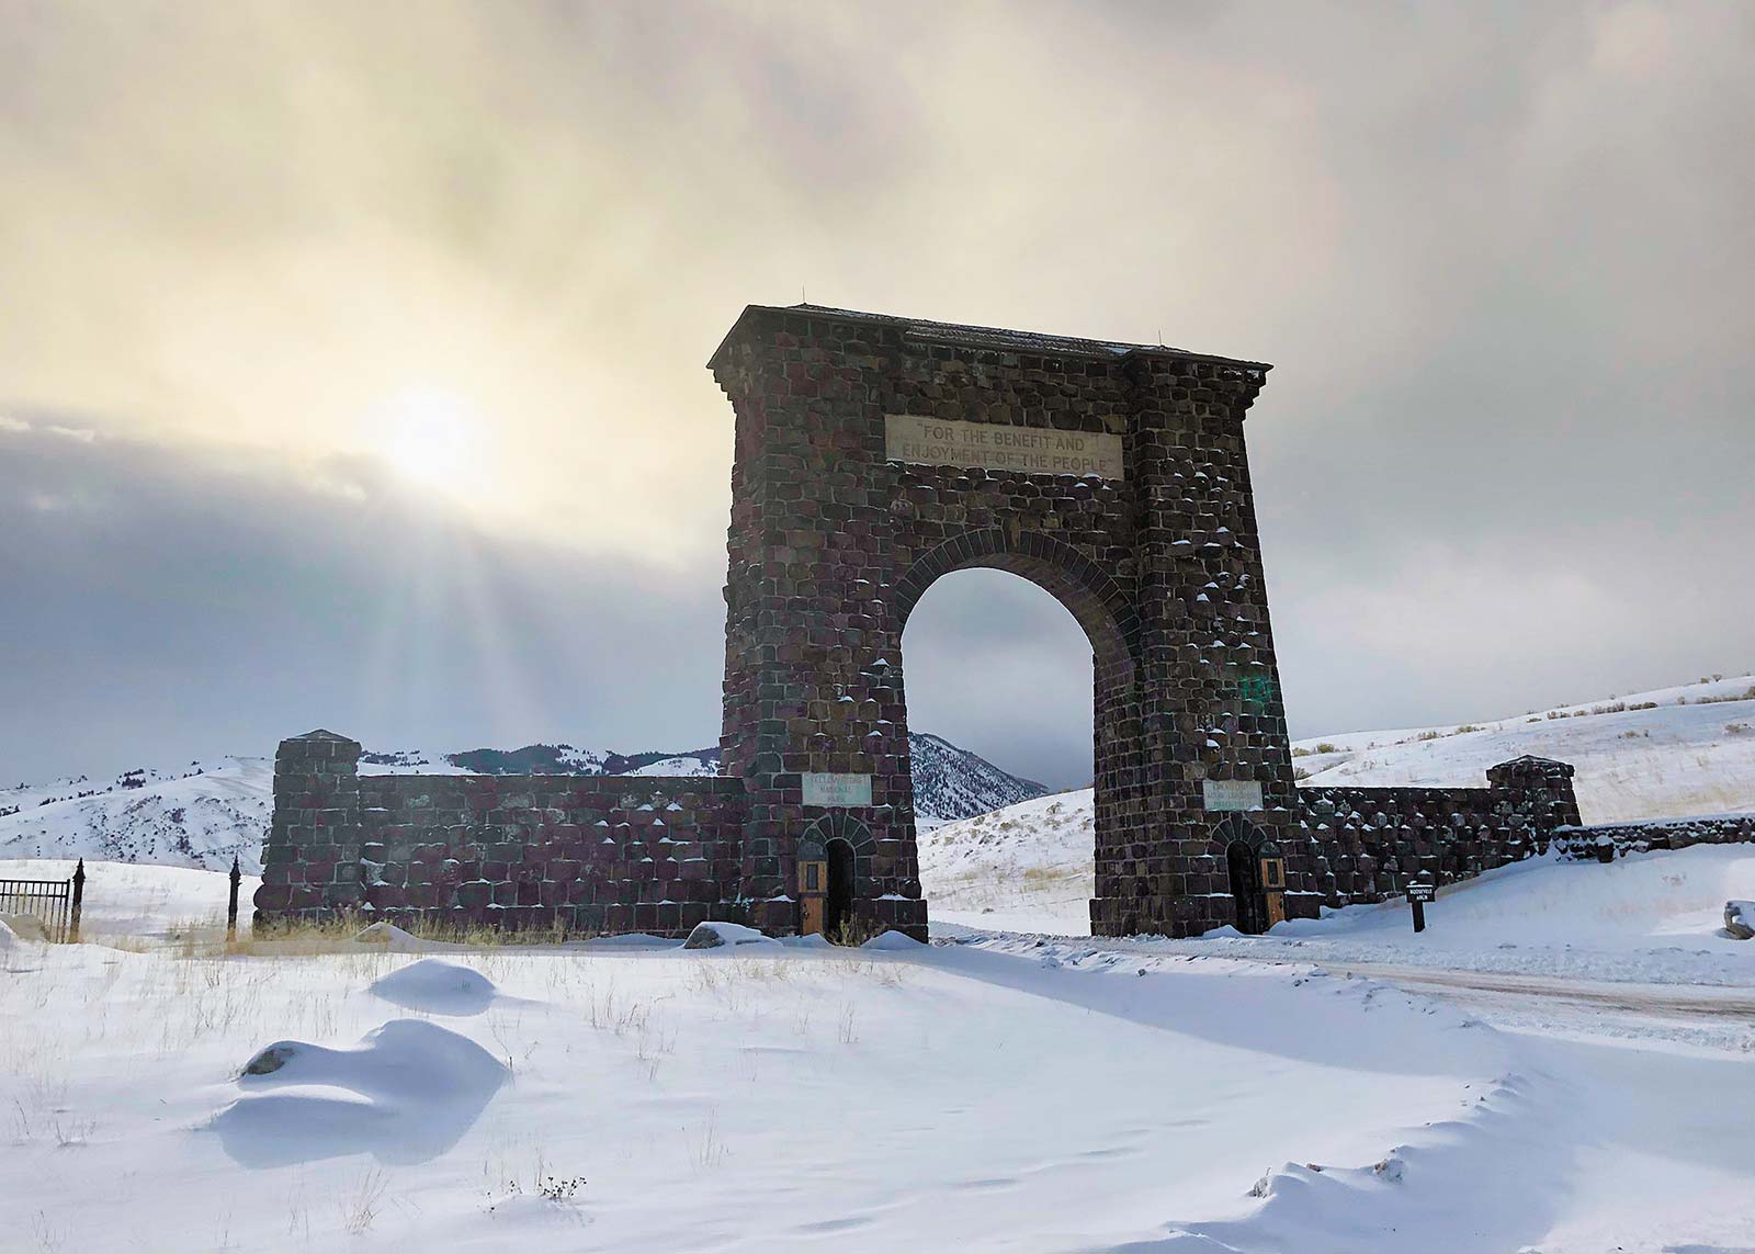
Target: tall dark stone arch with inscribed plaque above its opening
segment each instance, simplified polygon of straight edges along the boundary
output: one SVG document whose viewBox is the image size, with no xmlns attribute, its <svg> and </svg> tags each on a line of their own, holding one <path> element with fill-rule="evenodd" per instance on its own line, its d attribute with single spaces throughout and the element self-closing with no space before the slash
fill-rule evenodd
<svg viewBox="0 0 1755 1254">
<path fill-rule="evenodd" d="M 900 636 L 937 578 L 992 567 L 1092 643 L 1093 933 L 1227 922 L 1211 797 L 1260 783 L 1281 838 L 1295 803 L 1243 434 L 1269 367 L 816 306 L 751 306 L 709 365 L 735 414 L 720 748 L 751 917 L 792 926 L 797 841 L 851 810 L 862 912 L 925 940 Z"/>
</svg>

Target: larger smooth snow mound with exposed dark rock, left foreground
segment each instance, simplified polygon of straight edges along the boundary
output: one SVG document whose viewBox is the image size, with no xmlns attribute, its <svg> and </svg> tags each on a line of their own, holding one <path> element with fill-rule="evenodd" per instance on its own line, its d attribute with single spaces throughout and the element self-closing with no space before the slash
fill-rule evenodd
<svg viewBox="0 0 1755 1254">
<path fill-rule="evenodd" d="M 237 1080 L 244 1096 L 212 1126 L 226 1154 L 251 1168 L 342 1154 L 425 1163 L 456 1145 L 507 1075 L 449 1027 L 393 1019 L 355 1049 L 269 1045 Z"/>
</svg>

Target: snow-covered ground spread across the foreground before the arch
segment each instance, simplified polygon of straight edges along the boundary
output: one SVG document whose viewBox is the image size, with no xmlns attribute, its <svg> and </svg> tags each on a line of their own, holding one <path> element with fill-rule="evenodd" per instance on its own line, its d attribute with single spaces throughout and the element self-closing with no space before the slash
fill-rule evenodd
<svg viewBox="0 0 1755 1254">
<path fill-rule="evenodd" d="M 216 896 L 183 876 L 223 903 L 221 875 L 123 869 L 88 864 L 118 917 Z M 1527 873 L 1541 917 L 1499 876 L 1427 936 L 1550 945 L 1571 913 L 1681 940 L 1722 882 L 1550 871 L 1622 866 Z M 1748 1247 L 1755 1052 L 1501 1031 L 1443 989 L 1197 945 L 0 940 L 0 1249 Z"/>
</svg>

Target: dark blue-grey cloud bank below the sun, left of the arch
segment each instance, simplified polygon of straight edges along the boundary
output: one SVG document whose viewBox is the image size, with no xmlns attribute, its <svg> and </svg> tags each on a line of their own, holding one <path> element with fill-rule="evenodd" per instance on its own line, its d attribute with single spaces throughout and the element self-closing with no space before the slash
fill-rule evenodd
<svg viewBox="0 0 1755 1254">
<path fill-rule="evenodd" d="M 312 490 L 274 460 L 140 441 L 0 458 L 0 760 L 23 776 L 377 746 L 718 736 L 718 578 Z"/>
</svg>

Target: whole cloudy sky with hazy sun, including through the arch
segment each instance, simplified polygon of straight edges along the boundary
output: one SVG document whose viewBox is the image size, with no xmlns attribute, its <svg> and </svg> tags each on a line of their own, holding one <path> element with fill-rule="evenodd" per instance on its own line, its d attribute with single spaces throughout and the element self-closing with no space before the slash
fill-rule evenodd
<svg viewBox="0 0 1755 1254">
<path fill-rule="evenodd" d="M 800 293 L 1274 362 L 1295 734 L 1755 667 L 1751 121 L 1739 4 L 0 0 L 0 776 L 711 743 Z M 1088 666 L 958 574 L 913 722 Z"/>
</svg>

